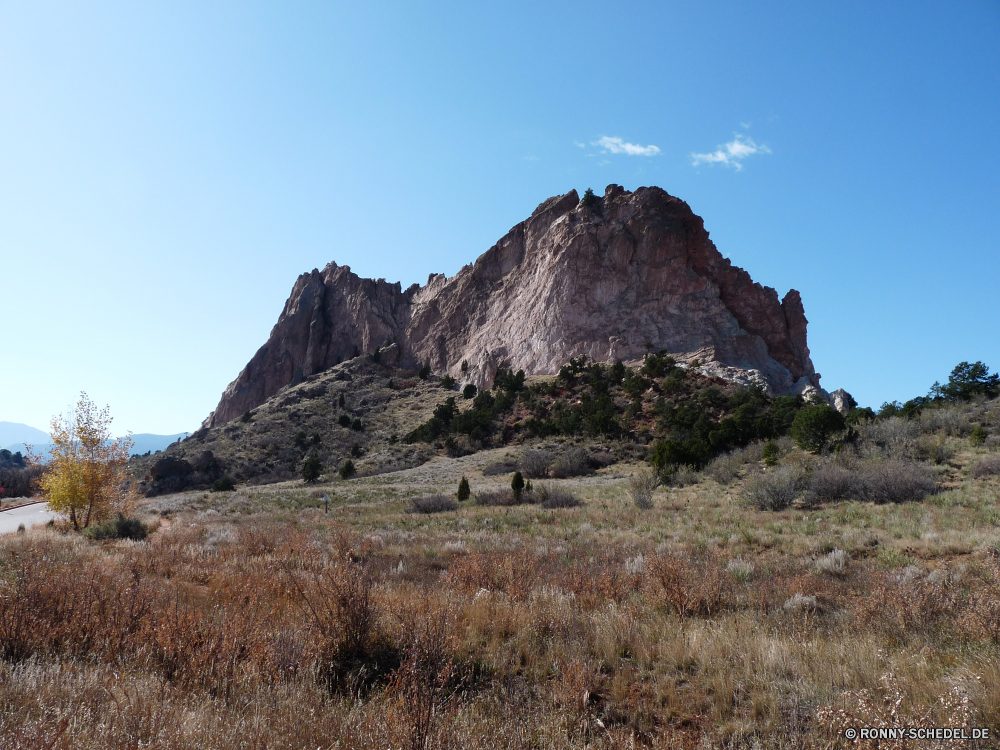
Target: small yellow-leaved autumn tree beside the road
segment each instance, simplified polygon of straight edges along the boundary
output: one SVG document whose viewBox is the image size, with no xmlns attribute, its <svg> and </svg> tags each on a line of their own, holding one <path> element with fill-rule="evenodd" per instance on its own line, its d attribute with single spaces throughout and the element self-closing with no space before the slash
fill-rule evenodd
<svg viewBox="0 0 1000 750">
<path fill-rule="evenodd" d="M 132 437 L 111 437 L 107 406 L 98 409 L 81 393 L 74 412 L 52 418 L 51 437 L 41 488 L 52 510 L 69 516 L 79 529 L 130 509 L 135 499 L 128 476 Z"/>
</svg>

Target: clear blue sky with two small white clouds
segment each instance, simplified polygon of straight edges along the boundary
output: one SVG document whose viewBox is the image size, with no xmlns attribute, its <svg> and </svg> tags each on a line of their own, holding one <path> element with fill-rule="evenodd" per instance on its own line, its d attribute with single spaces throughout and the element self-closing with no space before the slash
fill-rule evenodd
<svg viewBox="0 0 1000 750">
<path fill-rule="evenodd" d="M 800 290 L 829 389 L 996 370 L 998 39 L 996 0 L 0 0 L 0 420 L 193 430 L 299 273 L 453 274 L 609 183 Z"/>
</svg>

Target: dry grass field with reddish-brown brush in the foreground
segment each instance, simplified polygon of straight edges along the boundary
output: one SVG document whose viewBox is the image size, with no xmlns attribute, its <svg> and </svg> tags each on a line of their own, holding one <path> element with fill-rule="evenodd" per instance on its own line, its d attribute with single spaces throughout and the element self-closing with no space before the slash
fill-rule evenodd
<svg viewBox="0 0 1000 750">
<path fill-rule="evenodd" d="M 1000 732 L 1000 461 L 968 439 L 1000 419 L 995 402 L 942 413 L 836 455 L 786 442 L 766 469 L 752 446 L 649 510 L 627 463 L 535 481 L 578 507 L 480 505 L 519 455 L 497 449 L 151 498 L 143 542 L 5 537 L 0 744 L 996 746 L 841 734 Z M 936 489 L 880 504 L 820 482 L 887 466 Z M 751 488 L 779 472 L 797 499 L 757 509 Z M 414 512 L 462 476 L 470 501 Z"/>
</svg>

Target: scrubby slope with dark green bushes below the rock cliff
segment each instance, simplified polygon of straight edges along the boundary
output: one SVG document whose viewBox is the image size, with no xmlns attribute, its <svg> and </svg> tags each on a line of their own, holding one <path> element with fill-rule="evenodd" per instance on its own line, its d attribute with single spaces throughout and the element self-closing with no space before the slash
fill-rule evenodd
<svg viewBox="0 0 1000 750">
<path fill-rule="evenodd" d="M 350 459 L 368 475 L 434 456 L 552 441 L 584 447 L 605 465 L 646 458 L 659 441 L 663 460 L 701 466 L 753 440 L 785 435 L 809 403 L 768 395 L 760 384 L 733 384 L 710 366 L 681 365 L 665 352 L 631 366 L 580 356 L 554 377 L 500 370 L 491 390 L 473 394 L 450 376 L 386 364 L 394 349 L 382 350 L 378 362 L 357 357 L 336 365 L 239 419 L 203 427 L 165 454 L 135 459 L 134 473 L 147 493 L 162 494 L 207 488 L 224 476 L 291 479 L 310 456 L 328 474 Z"/>
</svg>

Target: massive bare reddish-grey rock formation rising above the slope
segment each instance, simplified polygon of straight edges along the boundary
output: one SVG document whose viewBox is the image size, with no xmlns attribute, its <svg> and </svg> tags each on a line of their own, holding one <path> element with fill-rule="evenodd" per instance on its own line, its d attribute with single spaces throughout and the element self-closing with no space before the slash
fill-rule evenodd
<svg viewBox="0 0 1000 750">
<path fill-rule="evenodd" d="M 423 287 L 403 291 L 336 263 L 303 274 L 206 424 L 386 341 L 398 343 L 400 364 L 429 362 L 480 388 L 498 367 L 552 374 L 580 354 L 639 359 L 647 343 L 757 370 L 775 392 L 819 387 L 797 291 L 779 301 L 733 266 L 679 198 L 609 185 L 590 208 L 575 190 L 550 198 L 475 263 Z"/>
</svg>

